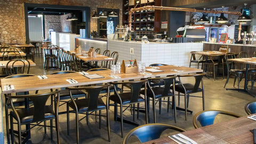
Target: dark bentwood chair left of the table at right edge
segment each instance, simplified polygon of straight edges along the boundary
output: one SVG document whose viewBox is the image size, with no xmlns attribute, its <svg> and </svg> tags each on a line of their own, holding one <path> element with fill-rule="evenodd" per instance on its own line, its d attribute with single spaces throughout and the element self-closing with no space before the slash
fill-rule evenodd
<svg viewBox="0 0 256 144">
<path fill-rule="evenodd" d="M 237 69 L 235 62 L 228 61 L 228 59 L 235 59 L 235 58 L 236 58 L 236 56 L 235 56 L 234 53 L 226 53 L 226 55 L 225 55 L 225 63 L 227 65 L 227 69 L 228 69 L 228 73 L 227 73 L 228 77 L 227 77 L 226 83 L 224 85 L 224 88 L 226 87 L 226 85 L 229 81 L 229 77 L 231 75 L 234 75 L 235 79 L 234 79 L 234 85 L 233 86 L 235 86 L 236 78 L 237 78 L 238 89 L 239 89 L 240 81 L 243 78 L 243 75 L 245 74 L 245 69 Z"/>
</svg>

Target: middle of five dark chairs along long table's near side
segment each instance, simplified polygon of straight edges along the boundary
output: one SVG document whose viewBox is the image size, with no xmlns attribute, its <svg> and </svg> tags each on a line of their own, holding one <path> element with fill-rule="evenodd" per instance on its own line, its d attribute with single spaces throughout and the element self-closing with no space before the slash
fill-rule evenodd
<svg viewBox="0 0 256 144">
<path fill-rule="evenodd" d="M 110 95 L 109 100 L 114 102 L 115 106 L 115 121 L 117 117 L 117 103 L 120 106 L 120 117 L 121 117 L 121 137 L 123 138 L 123 106 L 128 105 L 131 106 L 135 103 L 140 103 L 140 102 L 145 102 L 145 112 L 146 112 L 146 124 L 148 123 L 148 112 L 147 112 L 147 95 L 145 94 L 145 98 L 142 98 L 140 96 L 140 91 L 142 85 L 144 85 L 144 90 L 146 91 L 146 84 L 148 82 L 148 79 L 143 79 L 140 81 L 132 81 L 132 82 L 113 82 L 111 84 L 114 85 L 115 89 L 115 94 Z M 123 92 L 123 93 L 118 93 L 116 86 L 118 84 L 129 84 L 131 85 L 131 91 L 130 92 Z M 146 92 L 145 92 L 146 93 Z M 138 105 L 139 108 L 139 105 Z M 127 109 L 127 108 L 126 108 Z M 137 113 L 139 113 L 139 109 L 137 109 Z M 133 119 L 134 119 L 134 105 L 133 105 Z"/>
</svg>

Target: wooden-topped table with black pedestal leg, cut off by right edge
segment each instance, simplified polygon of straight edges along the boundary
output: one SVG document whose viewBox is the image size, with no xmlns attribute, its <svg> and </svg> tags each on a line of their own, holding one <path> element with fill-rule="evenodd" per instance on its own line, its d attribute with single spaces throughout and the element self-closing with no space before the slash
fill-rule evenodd
<svg viewBox="0 0 256 144">
<path fill-rule="evenodd" d="M 255 98 L 255 95 L 253 95 L 250 91 L 248 91 L 247 87 L 247 81 L 248 81 L 248 70 L 249 65 L 256 65 L 256 58 L 239 58 L 239 59 L 228 59 L 228 61 L 234 61 L 238 63 L 245 63 L 246 64 L 246 71 L 245 71 L 245 81 L 244 81 L 244 89 L 226 89 L 226 90 L 235 90 L 235 91 L 242 91 L 249 93 Z"/>
</svg>

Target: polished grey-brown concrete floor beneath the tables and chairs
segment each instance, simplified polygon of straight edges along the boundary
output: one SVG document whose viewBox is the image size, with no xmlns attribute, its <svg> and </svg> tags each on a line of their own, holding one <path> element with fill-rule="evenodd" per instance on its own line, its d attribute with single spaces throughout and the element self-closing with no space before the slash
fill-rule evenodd
<svg viewBox="0 0 256 144">
<path fill-rule="evenodd" d="M 42 55 L 37 55 L 35 58 L 36 67 L 31 67 L 30 73 L 35 75 L 43 75 L 43 74 L 51 74 L 54 69 L 45 70 L 43 68 L 43 57 Z M 194 79 L 182 79 L 183 82 L 193 82 Z M 244 111 L 244 105 L 249 101 L 255 101 L 249 94 L 245 94 L 243 92 L 237 91 L 227 91 L 223 89 L 223 86 L 226 82 L 226 79 L 217 79 L 213 80 L 204 78 L 204 86 L 205 86 L 205 109 L 219 109 L 219 110 L 227 110 L 237 113 L 239 115 L 246 115 Z M 230 79 L 230 82 L 226 87 L 233 87 L 234 78 Z M 244 81 L 241 82 L 241 87 L 243 86 Z M 255 88 L 256 89 L 256 88 Z M 198 93 L 196 95 L 200 95 Z M 180 107 L 183 107 L 183 97 L 181 98 Z M 142 105 L 143 106 L 143 105 Z M 163 103 L 162 105 L 162 114 L 159 115 L 158 105 L 157 105 L 157 123 L 170 124 L 174 126 L 181 127 L 185 130 L 193 130 L 193 116 L 199 111 L 203 110 L 202 108 L 202 99 L 201 98 L 190 98 L 189 101 L 189 109 L 193 110 L 193 113 L 188 113 L 188 119 L 185 121 L 185 113 L 183 111 L 177 111 L 177 123 L 174 123 L 174 114 L 171 109 L 169 113 L 167 113 L 167 105 Z M 60 107 L 60 111 L 66 110 L 66 106 Z M 153 114 L 152 114 L 152 105 L 150 102 L 150 122 L 153 122 Z M 106 115 L 106 111 L 103 111 L 103 115 Z M 59 115 L 59 123 L 60 123 L 60 138 L 61 143 L 76 143 L 76 126 L 75 126 L 75 114 L 70 114 L 70 134 L 67 135 L 67 118 L 66 114 Z M 79 118 L 82 118 L 83 115 L 80 115 Z M 132 121 L 132 115 L 130 109 L 126 110 L 124 113 L 124 118 Z M 229 117 L 217 117 L 215 122 L 228 121 Z M 5 120 L 5 118 L 4 118 Z M 139 119 L 135 118 L 135 122 L 139 125 L 146 124 L 145 123 L 145 114 L 141 113 Z M 5 123 L 5 121 L 4 121 Z M 124 135 L 126 135 L 130 130 L 132 130 L 135 126 L 130 124 L 124 124 Z M 24 130 L 24 129 L 23 129 Z M 218 130 L 217 130 L 218 131 Z M 5 132 L 5 130 L 4 130 Z M 171 131 L 166 131 L 164 135 L 170 135 Z M 114 108 L 110 107 L 110 135 L 111 142 L 108 142 L 107 136 L 107 126 L 106 126 L 106 118 L 102 118 L 101 129 L 99 129 L 99 119 L 95 122 L 95 117 L 89 117 L 89 125 L 86 124 L 86 119 L 82 119 L 79 122 L 79 142 L 80 143 L 122 143 L 123 138 L 121 138 L 121 128 L 120 123 L 114 121 Z M 17 140 L 17 139 L 16 139 Z M 131 143 L 137 143 L 136 138 L 132 138 Z M 50 138 L 50 129 L 47 129 L 47 133 L 44 134 L 43 127 L 35 127 L 31 130 L 31 139 L 27 143 L 57 143 L 56 133 L 54 131 L 54 138 L 51 141 Z"/>
</svg>

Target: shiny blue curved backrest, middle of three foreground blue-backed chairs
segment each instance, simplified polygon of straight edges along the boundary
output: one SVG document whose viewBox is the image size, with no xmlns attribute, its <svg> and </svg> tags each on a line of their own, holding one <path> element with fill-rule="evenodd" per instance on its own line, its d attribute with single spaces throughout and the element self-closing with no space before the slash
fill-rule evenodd
<svg viewBox="0 0 256 144">
<path fill-rule="evenodd" d="M 204 110 L 200 111 L 197 113 L 194 118 L 193 118 L 193 124 L 194 127 L 197 129 L 199 122 L 201 126 L 206 126 L 206 125 L 212 125 L 214 123 L 214 119 L 218 114 L 223 114 L 223 115 L 229 115 L 233 117 L 241 117 L 241 115 L 237 115 L 235 113 L 231 113 L 229 111 L 223 111 L 223 110 Z"/>
</svg>

